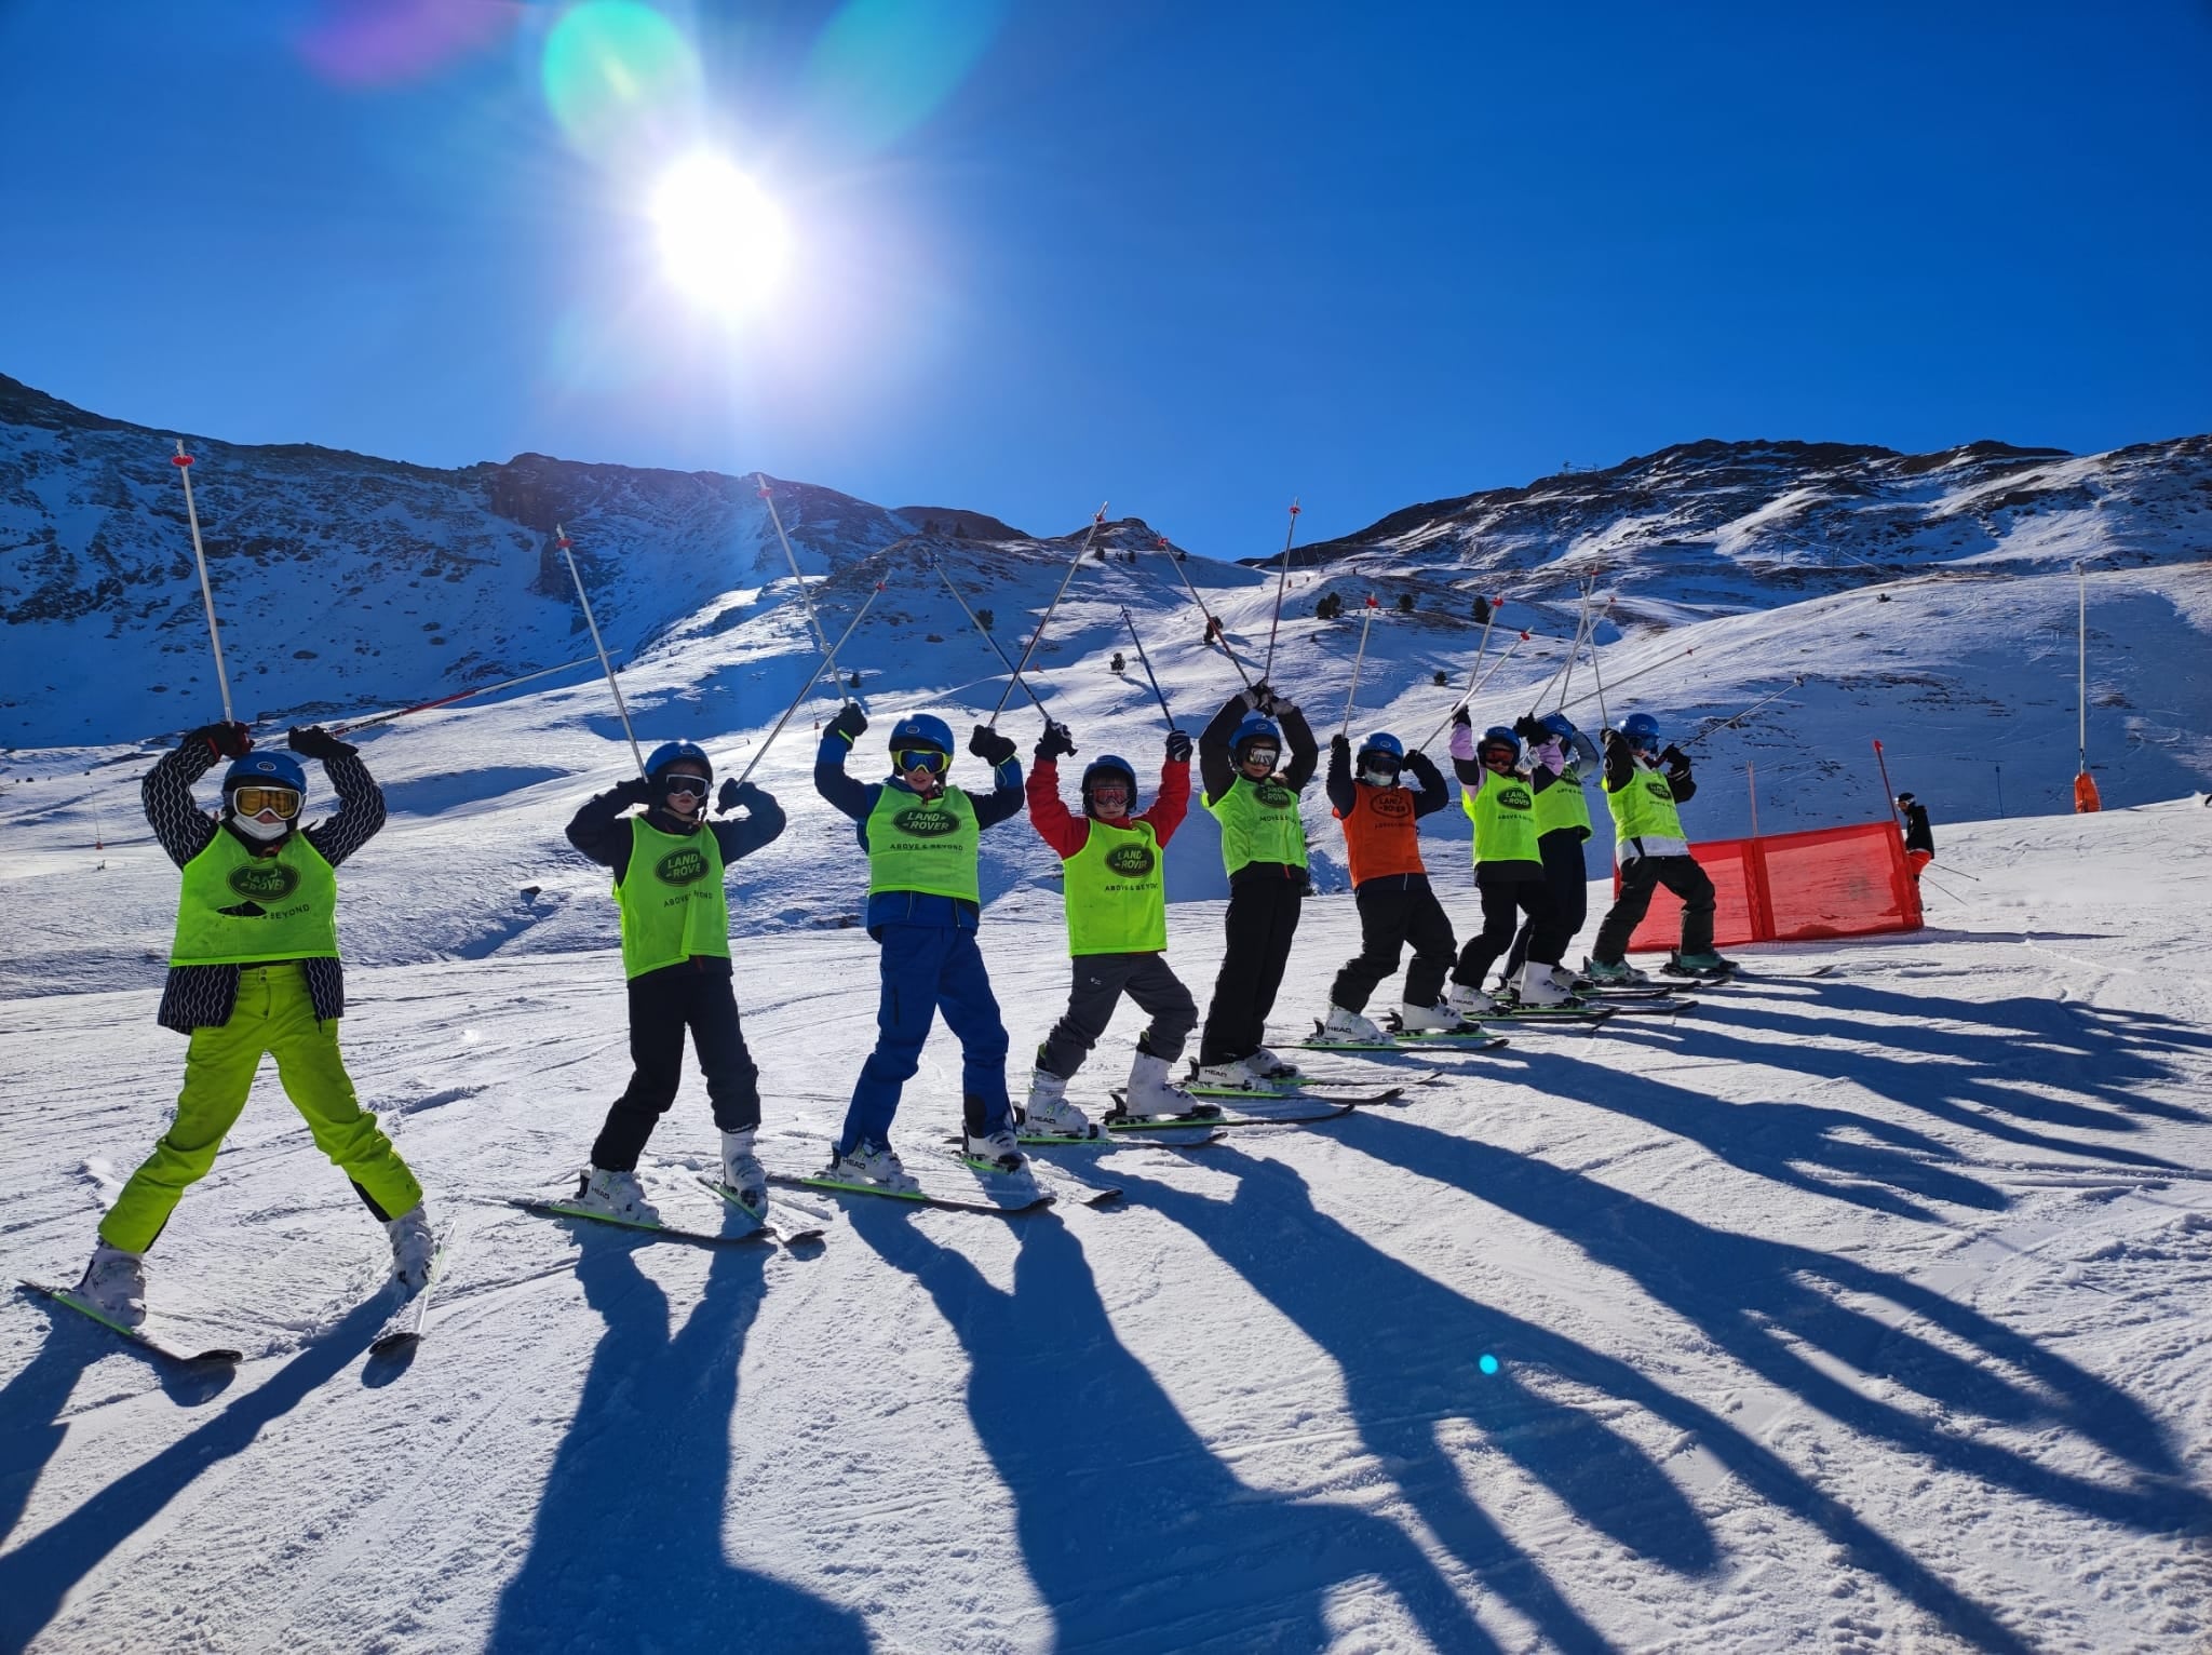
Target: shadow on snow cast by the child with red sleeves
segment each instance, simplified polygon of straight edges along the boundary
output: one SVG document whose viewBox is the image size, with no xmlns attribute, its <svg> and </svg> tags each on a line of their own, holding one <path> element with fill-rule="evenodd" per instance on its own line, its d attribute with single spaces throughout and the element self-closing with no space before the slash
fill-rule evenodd
<svg viewBox="0 0 2212 1655">
<path fill-rule="evenodd" d="M 1318 1212 L 1290 1166 L 1234 1148 L 1212 1151 L 1206 1166 L 1237 1177 L 1234 1199 L 1146 1177 L 1121 1184 L 1329 1352 L 1367 1451 L 1391 1467 L 1436 1538 L 1537 1626 L 1546 1648 L 1610 1644 L 1467 1491 L 1462 1467 L 1438 1443 L 1442 1420 L 1475 1425 L 1579 1522 L 1628 1551 L 1674 1573 L 1712 1569 L 1712 1531 L 1644 1449 L 1597 1414 L 1522 1385 L 1511 1370 L 1482 1374 L 1482 1356 L 1513 1323 Z M 1555 1350 L 1562 1345 L 1571 1341 L 1557 1339 Z M 1590 1367 L 1588 1356 L 1579 1365 Z"/>
</svg>

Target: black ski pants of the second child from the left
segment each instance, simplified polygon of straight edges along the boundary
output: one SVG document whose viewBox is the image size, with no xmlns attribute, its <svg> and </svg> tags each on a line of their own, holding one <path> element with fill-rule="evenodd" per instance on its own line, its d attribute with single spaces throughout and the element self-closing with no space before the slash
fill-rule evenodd
<svg viewBox="0 0 2212 1655">
<path fill-rule="evenodd" d="M 684 1031 L 690 1029 L 714 1124 L 734 1133 L 761 1124 L 761 1071 L 737 1024 L 730 962 L 695 958 L 630 978 L 630 1084 L 606 1111 L 591 1164 L 635 1173 L 637 1157 L 684 1080 Z"/>
</svg>

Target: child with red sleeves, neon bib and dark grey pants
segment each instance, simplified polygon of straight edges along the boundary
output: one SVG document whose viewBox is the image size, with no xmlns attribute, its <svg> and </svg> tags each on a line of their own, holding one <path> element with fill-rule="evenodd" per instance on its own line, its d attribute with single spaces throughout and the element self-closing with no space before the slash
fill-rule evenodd
<svg viewBox="0 0 2212 1655">
<path fill-rule="evenodd" d="M 1139 816 L 1130 814 L 1137 772 L 1110 752 L 1084 768 L 1084 814 L 1071 814 L 1060 801 L 1057 763 L 1068 752 L 1075 752 L 1068 730 L 1046 724 L 1029 770 L 1029 821 L 1060 852 L 1075 987 L 1066 1013 L 1037 1047 L 1026 1128 L 1091 1135 L 1091 1122 L 1066 1100 L 1066 1086 L 1106 1033 L 1124 993 L 1150 1018 L 1128 1069 L 1126 1113 L 1221 1113 L 1168 1080 L 1168 1064 L 1183 1055 L 1183 1042 L 1199 1022 L 1190 989 L 1168 969 L 1168 889 L 1161 872 L 1168 841 L 1190 810 L 1190 737 L 1168 732 L 1159 797 Z"/>
</svg>

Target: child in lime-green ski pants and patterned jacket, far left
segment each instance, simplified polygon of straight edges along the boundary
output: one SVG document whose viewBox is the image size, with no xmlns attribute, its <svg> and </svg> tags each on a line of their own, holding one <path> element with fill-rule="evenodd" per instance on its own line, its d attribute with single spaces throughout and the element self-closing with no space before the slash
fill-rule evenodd
<svg viewBox="0 0 2212 1655">
<path fill-rule="evenodd" d="M 338 1055 L 345 974 L 334 870 L 385 825 L 385 797 L 354 748 L 327 730 L 292 730 L 288 743 L 323 761 L 338 794 L 330 821 L 299 825 L 307 772 L 288 752 L 252 752 L 243 724 L 192 730 L 139 790 L 155 839 L 184 870 L 159 1022 L 192 1044 L 177 1115 L 100 1221 L 100 1246 L 77 1288 L 128 1328 L 146 1319 L 146 1250 L 184 1190 L 215 1166 L 263 1055 L 276 1058 L 276 1078 L 316 1148 L 385 1226 L 400 1288 L 429 1281 L 436 1239 L 422 1186 L 354 1097 Z M 219 757 L 232 766 L 223 808 L 208 816 L 192 783 Z"/>
</svg>

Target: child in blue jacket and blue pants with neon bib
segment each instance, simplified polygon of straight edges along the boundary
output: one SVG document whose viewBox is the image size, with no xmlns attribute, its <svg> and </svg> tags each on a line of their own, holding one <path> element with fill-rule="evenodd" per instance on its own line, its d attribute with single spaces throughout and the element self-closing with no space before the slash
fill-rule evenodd
<svg viewBox="0 0 2212 1655">
<path fill-rule="evenodd" d="M 982 918 L 975 852 L 984 828 L 1020 812 L 1022 766 L 1009 737 L 978 724 L 969 752 L 991 766 L 993 790 L 975 799 L 951 788 L 945 783 L 951 728 L 929 712 L 909 712 L 891 726 L 891 774 L 860 783 L 845 774 L 845 757 L 863 730 L 867 715 L 847 706 L 830 719 L 814 757 L 816 792 L 852 816 L 867 852 L 867 934 L 883 947 L 876 1049 L 852 1089 L 830 1177 L 916 1188 L 891 1151 L 891 1120 L 900 1089 L 922 1066 L 922 1042 L 938 1011 L 960 1038 L 967 1157 L 1020 1173 L 1029 1159 L 1006 1100 L 1006 1024 L 975 947 Z"/>
</svg>

